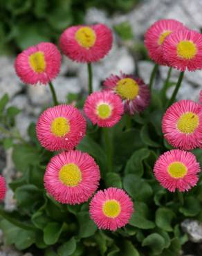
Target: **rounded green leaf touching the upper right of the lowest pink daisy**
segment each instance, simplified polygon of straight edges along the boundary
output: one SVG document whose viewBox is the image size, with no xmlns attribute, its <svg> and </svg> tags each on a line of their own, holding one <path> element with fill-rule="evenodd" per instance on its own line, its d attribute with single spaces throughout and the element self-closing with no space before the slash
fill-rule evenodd
<svg viewBox="0 0 202 256">
<path fill-rule="evenodd" d="M 151 186 L 134 174 L 127 174 L 125 176 L 123 188 L 136 201 L 149 201 L 153 194 Z"/>
</svg>

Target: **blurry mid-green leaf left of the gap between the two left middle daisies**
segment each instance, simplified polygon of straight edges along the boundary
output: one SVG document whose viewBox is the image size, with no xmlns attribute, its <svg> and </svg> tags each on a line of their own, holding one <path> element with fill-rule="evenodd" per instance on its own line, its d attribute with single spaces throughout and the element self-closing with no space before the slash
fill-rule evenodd
<svg viewBox="0 0 202 256">
<path fill-rule="evenodd" d="M 12 152 L 12 161 L 17 170 L 25 172 L 29 165 L 39 165 L 39 152 L 30 145 L 15 145 Z"/>
</svg>

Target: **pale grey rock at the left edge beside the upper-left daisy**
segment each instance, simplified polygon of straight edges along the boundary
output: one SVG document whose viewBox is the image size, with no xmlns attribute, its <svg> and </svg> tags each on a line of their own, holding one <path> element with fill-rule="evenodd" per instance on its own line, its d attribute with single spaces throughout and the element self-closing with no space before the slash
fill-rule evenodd
<svg viewBox="0 0 202 256">
<path fill-rule="evenodd" d="M 19 93 L 23 87 L 15 73 L 13 60 L 10 57 L 0 57 L 0 98 L 8 93 L 12 98 L 15 94 Z"/>
</svg>

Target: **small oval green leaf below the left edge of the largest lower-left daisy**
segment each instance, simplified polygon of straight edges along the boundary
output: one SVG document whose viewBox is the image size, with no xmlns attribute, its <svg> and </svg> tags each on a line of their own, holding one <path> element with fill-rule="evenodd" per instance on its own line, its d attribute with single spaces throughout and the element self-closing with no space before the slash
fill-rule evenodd
<svg viewBox="0 0 202 256">
<path fill-rule="evenodd" d="M 57 222 L 49 222 L 44 228 L 44 241 L 46 244 L 55 244 L 62 232 L 62 225 Z"/>
</svg>

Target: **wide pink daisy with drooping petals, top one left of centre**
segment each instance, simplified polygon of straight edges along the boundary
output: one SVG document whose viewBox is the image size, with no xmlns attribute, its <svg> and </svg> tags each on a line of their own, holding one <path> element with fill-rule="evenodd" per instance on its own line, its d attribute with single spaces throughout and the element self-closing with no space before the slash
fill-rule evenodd
<svg viewBox="0 0 202 256">
<path fill-rule="evenodd" d="M 71 26 L 64 30 L 59 46 L 67 57 L 76 62 L 98 62 L 112 45 L 111 30 L 104 24 Z"/>
</svg>

